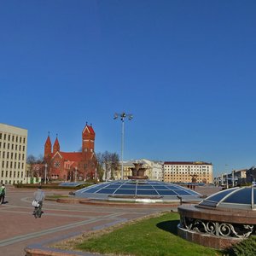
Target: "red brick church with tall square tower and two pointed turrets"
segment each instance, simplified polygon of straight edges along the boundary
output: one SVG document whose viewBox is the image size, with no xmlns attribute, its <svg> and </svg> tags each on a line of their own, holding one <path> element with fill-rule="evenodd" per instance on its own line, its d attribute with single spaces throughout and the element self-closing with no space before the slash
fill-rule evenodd
<svg viewBox="0 0 256 256">
<path fill-rule="evenodd" d="M 96 154 L 94 152 L 95 132 L 91 125 L 82 131 L 81 152 L 63 152 L 58 141 L 52 144 L 49 135 L 44 144 L 44 160 L 47 164 L 47 178 L 51 180 L 84 181 L 96 178 Z"/>
</svg>

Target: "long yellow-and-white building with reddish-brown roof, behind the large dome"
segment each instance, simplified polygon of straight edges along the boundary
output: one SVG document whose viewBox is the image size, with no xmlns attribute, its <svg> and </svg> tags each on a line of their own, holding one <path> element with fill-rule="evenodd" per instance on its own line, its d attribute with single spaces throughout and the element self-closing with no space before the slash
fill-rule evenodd
<svg viewBox="0 0 256 256">
<path fill-rule="evenodd" d="M 170 183 L 213 183 L 212 163 L 166 161 L 164 162 L 164 181 Z"/>
</svg>

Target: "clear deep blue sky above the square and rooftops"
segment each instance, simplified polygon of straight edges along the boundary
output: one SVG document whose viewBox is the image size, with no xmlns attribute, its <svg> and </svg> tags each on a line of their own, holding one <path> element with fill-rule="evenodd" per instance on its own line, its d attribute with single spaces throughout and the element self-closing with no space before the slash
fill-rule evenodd
<svg viewBox="0 0 256 256">
<path fill-rule="evenodd" d="M 78 151 L 256 165 L 256 1 L 0 0 L 1 123 Z M 226 166 L 228 165 L 228 166 Z"/>
</svg>

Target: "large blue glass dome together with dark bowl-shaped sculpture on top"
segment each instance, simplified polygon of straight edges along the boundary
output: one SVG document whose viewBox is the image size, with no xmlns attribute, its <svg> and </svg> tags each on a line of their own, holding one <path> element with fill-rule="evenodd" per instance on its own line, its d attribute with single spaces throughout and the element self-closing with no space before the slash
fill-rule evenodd
<svg viewBox="0 0 256 256">
<path fill-rule="evenodd" d="M 97 183 L 79 189 L 75 192 L 75 196 L 93 201 L 172 202 L 175 204 L 178 204 L 181 198 L 184 202 L 201 201 L 201 195 L 191 189 L 173 183 L 149 180 L 144 174 L 147 168 L 142 162 L 136 162 L 133 165 L 128 179 Z"/>
</svg>

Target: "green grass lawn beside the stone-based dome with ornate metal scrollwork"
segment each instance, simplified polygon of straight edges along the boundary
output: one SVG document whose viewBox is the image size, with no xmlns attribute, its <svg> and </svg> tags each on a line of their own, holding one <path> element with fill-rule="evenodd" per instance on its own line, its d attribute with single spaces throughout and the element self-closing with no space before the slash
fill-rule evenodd
<svg viewBox="0 0 256 256">
<path fill-rule="evenodd" d="M 154 218 L 131 222 L 113 230 L 101 230 L 92 236 L 80 236 L 79 239 L 66 241 L 65 248 L 113 253 L 112 255 L 222 255 L 218 250 L 202 247 L 177 236 L 178 223 L 179 214 L 168 212 Z"/>
</svg>

